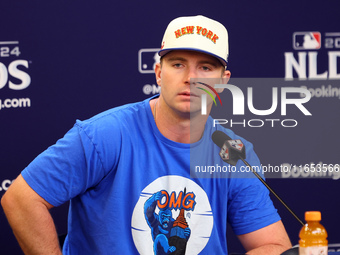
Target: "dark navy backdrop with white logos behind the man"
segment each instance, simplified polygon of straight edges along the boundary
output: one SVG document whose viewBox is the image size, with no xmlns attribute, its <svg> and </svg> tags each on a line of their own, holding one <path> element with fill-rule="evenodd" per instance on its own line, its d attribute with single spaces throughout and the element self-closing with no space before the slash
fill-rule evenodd
<svg viewBox="0 0 340 255">
<path fill-rule="evenodd" d="M 311 92 L 304 105 L 312 116 L 293 105 L 282 115 L 280 93 L 278 109 L 269 116 L 253 114 L 247 105 L 243 116 L 222 116 L 254 143 L 264 165 L 340 164 L 339 9 L 336 0 L 2 1 L 0 196 L 76 119 L 158 93 L 154 54 L 168 22 L 183 15 L 225 24 L 232 77 L 248 78 L 243 84 L 235 80 L 245 102 L 247 87 L 253 87 L 257 109 L 270 108 L 271 84 L 279 91 L 304 86 Z M 313 45 L 303 43 L 306 35 Z M 261 86 L 267 78 L 283 81 Z M 225 97 L 223 102 L 230 94 Z M 279 121 L 271 126 L 266 119 Z M 340 242 L 339 175 L 274 177 L 268 183 L 300 218 L 306 210 L 320 210 L 330 243 Z M 296 244 L 301 226 L 273 201 Z M 59 233 L 66 232 L 67 205 L 52 214 Z M 3 212 L 0 226 L 0 253 L 21 254 Z M 231 231 L 228 240 L 230 251 L 242 251 Z"/>
</svg>

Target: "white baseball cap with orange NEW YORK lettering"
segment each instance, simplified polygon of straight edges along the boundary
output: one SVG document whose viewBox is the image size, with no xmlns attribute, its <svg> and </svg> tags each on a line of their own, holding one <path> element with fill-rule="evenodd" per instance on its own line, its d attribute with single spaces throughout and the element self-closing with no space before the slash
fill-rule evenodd
<svg viewBox="0 0 340 255">
<path fill-rule="evenodd" d="M 204 17 L 188 16 L 172 20 L 165 30 L 159 56 L 172 50 L 194 50 L 228 62 L 228 31 L 219 22 Z"/>
</svg>

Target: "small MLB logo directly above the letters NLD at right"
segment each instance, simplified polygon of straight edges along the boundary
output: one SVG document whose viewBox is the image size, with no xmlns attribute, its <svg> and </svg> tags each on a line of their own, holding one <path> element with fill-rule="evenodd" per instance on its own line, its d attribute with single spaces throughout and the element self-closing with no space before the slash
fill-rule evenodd
<svg viewBox="0 0 340 255">
<path fill-rule="evenodd" d="M 293 34 L 295 50 L 316 50 L 321 48 L 320 32 L 295 32 Z"/>
</svg>

